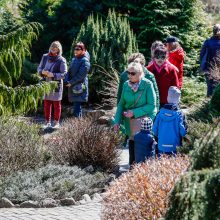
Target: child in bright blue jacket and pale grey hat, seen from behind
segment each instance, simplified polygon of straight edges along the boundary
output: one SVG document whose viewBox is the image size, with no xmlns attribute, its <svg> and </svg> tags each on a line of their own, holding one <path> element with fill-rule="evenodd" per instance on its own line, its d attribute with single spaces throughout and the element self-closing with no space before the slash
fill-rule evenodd
<svg viewBox="0 0 220 220">
<path fill-rule="evenodd" d="M 170 86 L 167 102 L 159 111 L 153 125 L 153 133 L 158 137 L 159 154 L 176 154 L 181 146 L 182 137 L 187 133 L 185 117 L 180 110 L 181 91 Z"/>
</svg>

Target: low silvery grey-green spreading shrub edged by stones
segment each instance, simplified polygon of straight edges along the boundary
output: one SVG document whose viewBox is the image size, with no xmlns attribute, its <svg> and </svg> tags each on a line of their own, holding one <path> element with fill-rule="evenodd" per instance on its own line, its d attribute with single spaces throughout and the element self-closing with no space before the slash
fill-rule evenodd
<svg viewBox="0 0 220 220">
<path fill-rule="evenodd" d="M 100 193 L 107 182 L 108 175 L 104 173 L 90 174 L 76 166 L 47 165 L 0 178 L 0 197 L 15 203 L 45 198 L 79 200 L 83 194 Z"/>
</svg>

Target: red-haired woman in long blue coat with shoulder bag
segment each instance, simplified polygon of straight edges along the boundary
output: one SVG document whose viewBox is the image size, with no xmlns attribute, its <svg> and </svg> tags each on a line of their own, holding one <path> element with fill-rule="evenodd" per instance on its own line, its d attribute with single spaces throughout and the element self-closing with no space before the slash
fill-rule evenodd
<svg viewBox="0 0 220 220">
<path fill-rule="evenodd" d="M 90 70 L 89 53 L 79 42 L 74 47 L 74 58 L 66 77 L 68 99 L 73 103 L 73 116 L 82 117 L 81 104 L 88 101 L 88 73 Z"/>
</svg>

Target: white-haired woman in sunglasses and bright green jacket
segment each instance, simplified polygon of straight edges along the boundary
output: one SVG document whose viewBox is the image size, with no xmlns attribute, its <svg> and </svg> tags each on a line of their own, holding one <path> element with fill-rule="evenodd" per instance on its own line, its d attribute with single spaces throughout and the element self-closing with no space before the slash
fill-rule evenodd
<svg viewBox="0 0 220 220">
<path fill-rule="evenodd" d="M 128 78 L 123 85 L 120 102 L 115 115 L 114 130 L 118 131 L 124 118 L 125 132 L 129 136 L 129 164 L 135 161 L 134 135 L 141 129 L 141 119 L 156 115 L 156 95 L 152 83 L 144 78 L 140 63 L 128 65 Z"/>
</svg>

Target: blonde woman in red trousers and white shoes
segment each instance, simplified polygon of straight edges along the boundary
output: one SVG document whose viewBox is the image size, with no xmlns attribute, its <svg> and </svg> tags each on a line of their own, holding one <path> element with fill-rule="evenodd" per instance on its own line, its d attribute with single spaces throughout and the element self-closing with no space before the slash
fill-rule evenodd
<svg viewBox="0 0 220 220">
<path fill-rule="evenodd" d="M 44 96 L 44 128 L 51 127 L 52 105 L 54 107 L 54 128 L 59 128 L 63 79 L 67 73 L 66 60 L 62 57 L 62 46 L 59 41 L 54 41 L 50 45 L 49 53 L 43 55 L 40 65 L 38 66 L 38 73 L 47 82 L 55 81 L 58 83 L 58 87 L 54 92 Z"/>
</svg>

